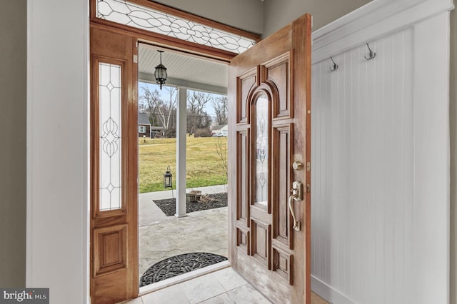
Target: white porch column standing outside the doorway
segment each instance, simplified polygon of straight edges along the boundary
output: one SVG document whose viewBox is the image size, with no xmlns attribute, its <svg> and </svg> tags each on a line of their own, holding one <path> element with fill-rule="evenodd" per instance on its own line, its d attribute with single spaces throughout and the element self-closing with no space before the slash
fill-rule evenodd
<svg viewBox="0 0 457 304">
<path fill-rule="evenodd" d="M 186 108 L 187 89 L 178 87 L 178 106 L 176 108 L 176 213 L 186 216 Z"/>
</svg>

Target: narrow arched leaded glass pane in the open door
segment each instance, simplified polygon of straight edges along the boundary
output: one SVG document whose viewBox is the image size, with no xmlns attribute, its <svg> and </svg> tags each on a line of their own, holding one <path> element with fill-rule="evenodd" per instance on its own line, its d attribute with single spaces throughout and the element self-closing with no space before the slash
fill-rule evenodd
<svg viewBox="0 0 457 304">
<path fill-rule="evenodd" d="M 256 203 L 268 202 L 268 98 L 256 101 Z"/>
</svg>

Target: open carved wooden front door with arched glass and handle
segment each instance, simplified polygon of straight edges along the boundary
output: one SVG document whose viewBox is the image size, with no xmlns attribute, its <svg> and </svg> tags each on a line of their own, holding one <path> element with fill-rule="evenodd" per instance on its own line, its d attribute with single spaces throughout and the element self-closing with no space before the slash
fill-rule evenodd
<svg viewBox="0 0 457 304">
<path fill-rule="evenodd" d="M 231 265 L 273 303 L 310 303 L 310 15 L 231 60 L 229 113 Z"/>
</svg>

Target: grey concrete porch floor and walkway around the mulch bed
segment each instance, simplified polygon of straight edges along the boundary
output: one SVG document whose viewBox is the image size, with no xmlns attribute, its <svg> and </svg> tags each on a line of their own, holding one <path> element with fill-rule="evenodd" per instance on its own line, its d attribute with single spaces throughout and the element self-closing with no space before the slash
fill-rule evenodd
<svg viewBox="0 0 457 304">
<path fill-rule="evenodd" d="M 201 193 L 223 193 L 226 186 L 192 188 Z M 176 197 L 176 191 L 174 191 Z M 139 275 L 149 267 L 182 253 L 215 253 L 227 257 L 227 207 L 166 216 L 154 200 L 171 198 L 171 190 L 139 195 Z"/>
</svg>

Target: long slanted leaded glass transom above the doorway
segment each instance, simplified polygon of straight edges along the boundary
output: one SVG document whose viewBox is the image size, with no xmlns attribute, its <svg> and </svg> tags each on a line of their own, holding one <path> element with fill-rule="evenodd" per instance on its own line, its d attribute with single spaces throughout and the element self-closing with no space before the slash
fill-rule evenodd
<svg viewBox="0 0 457 304">
<path fill-rule="evenodd" d="M 97 17 L 216 49 L 242 53 L 256 41 L 126 0 L 97 0 Z"/>
</svg>

